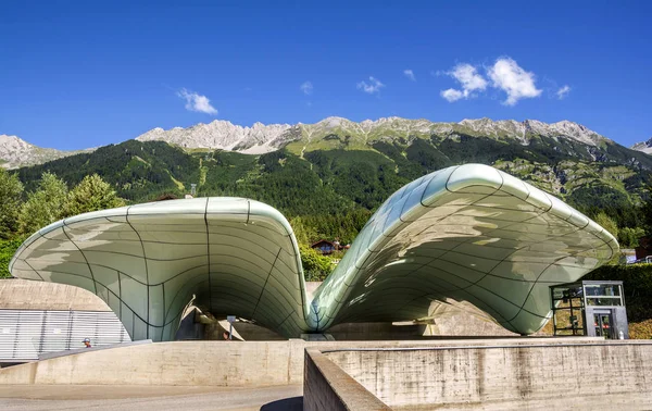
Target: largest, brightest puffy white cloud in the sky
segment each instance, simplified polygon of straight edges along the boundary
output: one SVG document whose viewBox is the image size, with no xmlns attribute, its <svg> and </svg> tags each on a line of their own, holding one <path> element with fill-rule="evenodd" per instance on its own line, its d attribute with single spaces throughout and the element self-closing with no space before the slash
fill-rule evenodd
<svg viewBox="0 0 652 411">
<path fill-rule="evenodd" d="M 500 58 L 487 71 L 492 86 L 507 94 L 503 102 L 514 105 L 521 99 L 539 97 L 541 90 L 535 85 L 535 73 L 526 72 L 514 60 Z"/>
</svg>

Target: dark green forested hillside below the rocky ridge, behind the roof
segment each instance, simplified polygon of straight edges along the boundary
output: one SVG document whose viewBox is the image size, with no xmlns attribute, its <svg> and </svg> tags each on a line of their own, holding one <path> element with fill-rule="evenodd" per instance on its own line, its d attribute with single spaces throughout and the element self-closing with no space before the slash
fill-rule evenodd
<svg viewBox="0 0 652 411">
<path fill-rule="evenodd" d="M 180 197 L 197 184 L 199 196 L 248 197 L 292 219 L 373 211 L 414 178 L 449 165 L 479 162 L 561 197 L 589 216 L 604 211 L 620 227 L 640 226 L 639 205 L 648 199 L 652 182 L 652 157 L 613 142 L 591 153 L 580 142 L 549 137 L 531 138 L 524 146 L 471 135 L 432 135 L 375 140 L 365 149 L 350 149 L 347 136 L 331 135 L 326 141 L 330 146 L 299 150 L 290 144 L 252 155 L 187 152 L 163 141 L 129 140 L 16 173 L 26 191 L 46 171 L 71 186 L 97 173 L 128 202 L 162 194 Z"/>
</svg>

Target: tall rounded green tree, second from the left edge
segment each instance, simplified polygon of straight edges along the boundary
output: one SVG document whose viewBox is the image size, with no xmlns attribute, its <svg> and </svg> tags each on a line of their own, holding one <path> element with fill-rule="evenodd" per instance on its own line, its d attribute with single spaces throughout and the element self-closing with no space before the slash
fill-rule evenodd
<svg viewBox="0 0 652 411">
<path fill-rule="evenodd" d="M 21 208 L 20 232 L 30 234 L 62 217 L 67 197 L 66 184 L 52 173 L 43 173 L 38 189 Z"/>
</svg>

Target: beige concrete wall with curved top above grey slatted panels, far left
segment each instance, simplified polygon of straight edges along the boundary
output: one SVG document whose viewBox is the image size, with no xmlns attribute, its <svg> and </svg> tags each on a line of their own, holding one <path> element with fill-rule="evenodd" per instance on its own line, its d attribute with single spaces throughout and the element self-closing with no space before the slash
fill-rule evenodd
<svg viewBox="0 0 652 411">
<path fill-rule="evenodd" d="M 65 284 L 0 279 L 0 308 L 12 310 L 111 311 L 95 294 Z"/>
</svg>

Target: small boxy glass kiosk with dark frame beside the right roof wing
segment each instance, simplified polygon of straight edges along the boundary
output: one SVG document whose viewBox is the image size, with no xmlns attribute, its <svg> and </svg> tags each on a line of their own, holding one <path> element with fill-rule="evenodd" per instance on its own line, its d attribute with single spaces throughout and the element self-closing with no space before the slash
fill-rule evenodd
<svg viewBox="0 0 652 411">
<path fill-rule="evenodd" d="M 585 281 L 550 287 L 555 336 L 628 337 L 623 282 Z"/>
</svg>

